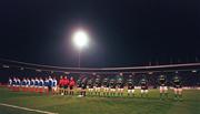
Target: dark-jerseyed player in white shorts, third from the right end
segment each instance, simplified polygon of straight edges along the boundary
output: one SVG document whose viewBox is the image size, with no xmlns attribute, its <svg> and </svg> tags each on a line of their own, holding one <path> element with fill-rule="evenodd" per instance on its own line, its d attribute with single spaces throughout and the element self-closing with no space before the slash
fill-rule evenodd
<svg viewBox="0 0 200 114">
<path fill-rule="evenodd" d="M 142 79 L 140 81 L 141 85 L 141 97 L 143 97 L 143 94 L 146 94 L 146 97 L 148 97 L 148 81 L 146 79 Z"/>
</svg>

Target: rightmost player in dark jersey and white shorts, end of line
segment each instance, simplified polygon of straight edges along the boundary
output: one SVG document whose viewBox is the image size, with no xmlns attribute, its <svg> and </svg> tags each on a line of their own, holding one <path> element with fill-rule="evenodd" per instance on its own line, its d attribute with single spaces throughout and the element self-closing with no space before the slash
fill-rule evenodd
<svg viewBox="0 0 200 114">
<path fill-rule="evenodd" d="M 182 100 L 182 83 L 178 75 L 173 77 L 174 100 Z"/>
</svg>

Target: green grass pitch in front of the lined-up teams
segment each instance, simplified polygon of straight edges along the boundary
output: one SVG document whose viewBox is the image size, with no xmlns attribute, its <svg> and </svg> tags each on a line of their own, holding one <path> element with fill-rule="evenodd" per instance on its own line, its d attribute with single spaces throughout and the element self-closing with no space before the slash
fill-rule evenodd
<svg viewBox="0 0 200 114">
<path fill-rule="evenodd" d="M 41 110 L 59 114 L 200 114 L 200 91 L 183 91 L 183 101 L 159 100 L 159 91 L 150 90 L 149 99 L 131 97 L 77 97 L 10 92 L 0 87 L 0 103 Z M 0 114 L 41 114 L 0 105 Z"/>
</svg>

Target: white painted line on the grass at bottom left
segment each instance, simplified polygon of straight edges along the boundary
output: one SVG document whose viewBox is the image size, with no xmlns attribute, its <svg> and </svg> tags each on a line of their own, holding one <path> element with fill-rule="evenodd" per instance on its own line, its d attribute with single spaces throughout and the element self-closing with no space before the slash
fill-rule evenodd
<svg viewBox="0 0 200 114">
<path fill-rule="evenodd" d="M 42 113 L 42 114 L 58 114 L 58 113 L 52 113 L 52 112 L 47 112 L 47 111 L 41 111 L 41 110 L 32 110 L 32 108 L 28 108 L 28 107 L 21 107 L 21 106 L 4 104 L 4 103 L 0 103 L 0 105 L 13 107 L 13 108 L 20 108 L 20 110 L 30 111 L 30 112 Z"/>
</svg>

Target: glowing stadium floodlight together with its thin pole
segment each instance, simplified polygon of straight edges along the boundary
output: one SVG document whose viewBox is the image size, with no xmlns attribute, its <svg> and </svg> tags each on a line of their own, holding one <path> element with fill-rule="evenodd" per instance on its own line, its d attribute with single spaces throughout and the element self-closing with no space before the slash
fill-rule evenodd
<svg viewBox="0 0 200 114">
<path fill-rule="evenodd" d="M 72 35 L 72 41 L 73 41 L 74 45 L 79 49 L 78 66 L 80 68 L 80 53 L 81 53 L 81 50 L 88 45 L 88 42 L 89 42 L 88 33 L 83 30 L 78 30 Z"/>
</svg>

